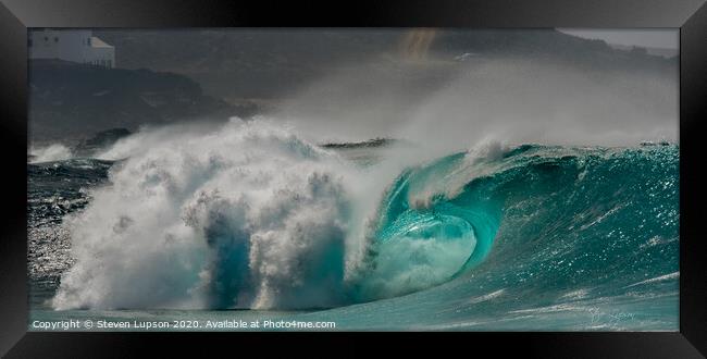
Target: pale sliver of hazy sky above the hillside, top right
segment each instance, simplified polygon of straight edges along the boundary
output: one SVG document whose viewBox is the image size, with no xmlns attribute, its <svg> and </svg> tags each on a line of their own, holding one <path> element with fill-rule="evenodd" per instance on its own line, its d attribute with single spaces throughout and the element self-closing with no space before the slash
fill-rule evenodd
<svg viewBox="0 0 707 359">
<path fill-rule="evenodd" d="M 558 28 L 558 30 L 584 38 L 601 39 L 610 44 L 662 49 L 678 49 L 680 40 L 677 28 Z"/>
</svg>

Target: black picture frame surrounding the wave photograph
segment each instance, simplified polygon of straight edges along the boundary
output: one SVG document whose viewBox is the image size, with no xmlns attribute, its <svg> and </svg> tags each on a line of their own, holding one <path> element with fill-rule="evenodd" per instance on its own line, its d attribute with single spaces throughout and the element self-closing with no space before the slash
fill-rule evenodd
<svg viewBox="0 0 707 359">
<path fill-rule="evenodd" d="M 302 333 L 27 333 L 26 146 L 28 27 L 679 27 L 680 28 L 680 332 L 679 333 L 455 333 L 433 335 L 476 352 L 516 351 L 545 358 L 699 358 L 707 355 L 707 267 L 700 202 L 703 137 L 707 99 L 707 5 L 704 0 L 398 0 L 209 1 L 209 0 L 2 0 L 0 4 L 0 98 L 4 158 L 0 237 L 0 354 L 8 357 L 125 357 L 145 346 L 183 348 L 193 338 L 231 348 L 264 339 L 300 342 Z M 347 354 L 360 338 L 320 333 Z M 412 338 L 406 338 L 408 335 Z M 420 333 L 395 335 L 410 344 Z M 386 339 L 387 341 L 387 339 Z M 208 344 L 208 345 L 210 345 Z M 446 344 L 445 344 L 446 345 Z"/>
</svg>

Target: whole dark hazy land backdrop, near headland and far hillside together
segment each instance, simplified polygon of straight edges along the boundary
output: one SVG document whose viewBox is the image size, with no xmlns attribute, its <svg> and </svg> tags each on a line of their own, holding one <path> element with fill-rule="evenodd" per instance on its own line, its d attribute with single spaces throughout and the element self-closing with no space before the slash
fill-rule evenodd
<svg viewBox="0 0 707 359">
<path fill-rule="evenodd" d="M 117 69 L 32 61 L 33 140 L 85 139 L 100 131 L 224 120 L 286 108 L 298 113 L 405 115 L 410 106 L 498 59 L 596 74 L 649 73 L 673 81 L 675 58 L 617 49 L 554 29 L 96 30 Z M 318 83 L 319 82 L 319 83 Z M 385 103 L 381 104 L 381 99 Z M 381 110 L 384 107 L 386 111 Z M 301 111 L 300 111 L 301 112 Z"/>
</svg>

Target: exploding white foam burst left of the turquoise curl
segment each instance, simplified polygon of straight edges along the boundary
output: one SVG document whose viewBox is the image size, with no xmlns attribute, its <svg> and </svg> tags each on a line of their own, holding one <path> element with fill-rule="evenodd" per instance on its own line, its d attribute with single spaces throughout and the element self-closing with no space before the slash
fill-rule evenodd
<svg viewBox="0 0 707 359">
<path fill-rule="evenodd" d="M 138 138 L 70 219 L 76 264 L 55 309 L 344 300 L 349 170 L 336 156 L 262 122 Z"/>
</svg>

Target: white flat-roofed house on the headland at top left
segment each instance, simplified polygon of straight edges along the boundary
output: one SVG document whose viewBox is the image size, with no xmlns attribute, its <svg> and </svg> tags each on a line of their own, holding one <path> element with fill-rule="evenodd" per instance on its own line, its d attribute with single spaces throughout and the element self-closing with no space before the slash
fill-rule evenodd
<svg viewBox="0 0 707 359">
<path fill-rule="evenodd" d="M 37 29 L 27 36 L 29 59 L 59 59 L 104 67 L 115 66 L 115 48 L 87 29 Z"/>
</svg>

